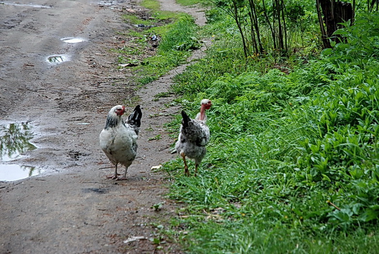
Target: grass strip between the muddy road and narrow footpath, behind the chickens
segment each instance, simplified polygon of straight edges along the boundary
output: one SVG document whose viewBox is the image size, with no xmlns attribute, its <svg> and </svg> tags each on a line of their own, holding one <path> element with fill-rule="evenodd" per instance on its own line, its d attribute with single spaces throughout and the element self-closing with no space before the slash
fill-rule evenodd
<svg viewBox="0 0 379 254">
<path fill-rule="evenodd" d="M 119 33 L 125 45 L 112 51 L 118 54 L 120 68 L 129 68 L 135 82 L 145 85 L 184 63 L 200 45 L 192 17 L 161 11 L 156 0 L 143 0 L 141 4 L 145 12 L 123 16 L 133 29 Z"/>
</svg>

